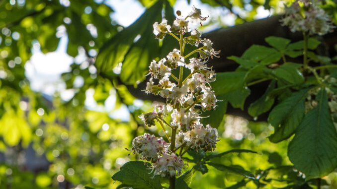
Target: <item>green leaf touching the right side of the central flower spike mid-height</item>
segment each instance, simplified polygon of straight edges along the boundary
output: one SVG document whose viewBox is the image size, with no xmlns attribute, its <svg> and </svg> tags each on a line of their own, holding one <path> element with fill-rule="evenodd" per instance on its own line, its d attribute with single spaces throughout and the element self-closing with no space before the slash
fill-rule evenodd
<svg viewBox="0 0 337 189">
<path fill-rule="evenodd" d="M 245 75 L 246 72 L 242 71 L 217 73 L 217 79 L 211 83 L 215 95 L 224 95 L 242 89 Z"/>
</svg>

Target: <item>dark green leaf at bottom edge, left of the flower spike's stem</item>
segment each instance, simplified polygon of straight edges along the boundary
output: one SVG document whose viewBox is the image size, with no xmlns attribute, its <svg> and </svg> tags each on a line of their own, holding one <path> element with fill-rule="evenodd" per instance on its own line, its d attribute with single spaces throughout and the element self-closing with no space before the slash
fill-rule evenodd
<svg viewBox="0 0 337 189">
<path fill-rule="evenodd" d="M 112 179 L 134 189 L 162 189 L 160 177 L 150 174 L 149 166 L 149 163 L 142 161 L 129 161 L 112 176 Z"/>
</svg>

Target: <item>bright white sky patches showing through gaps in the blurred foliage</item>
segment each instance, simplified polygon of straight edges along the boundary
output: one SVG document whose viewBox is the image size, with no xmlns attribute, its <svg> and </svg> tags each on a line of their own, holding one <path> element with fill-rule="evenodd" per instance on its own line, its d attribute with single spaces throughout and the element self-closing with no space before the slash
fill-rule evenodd
<svg viewBox="0 0 337 189">
<path fill-rule="evenodd" d="M 61 1 L 63 2 L 64 0 L 60 0 L 60 2 Z M 137 0 L 107 0 L 106 4 L 111 6 L 115 11 L 111 15 L 112 18 L 124 27 L 131 25 L 145 11 L 145 8 Z M 177 0 L 173 8 L 174 11 L 180 10 L 182 15 L 186 15 L 190 12 L 193 5 L 200 8 L 203 15 L 209 15 L 214 18 L 221 15 L 221 21 L 224 24 L 229 26 L 234 25 L 236 18 L 234 14 L 230 14 L 228 10 L 226 11 L 222 7 L 214 8 L 207 4 L 203 4 L 200 0 L 190 0 L 190 4 L 187 3 L 187 0 Z M 263 18 L 268 15 L 269 11 L 260 8 L 258 9 L 256 18 Z M 218 25 L 211 25 L 202 32 L 207 32 L 216 28 L 218 28 Z M 61 74 L 70 71 L 70 65 L 74 61 L 76 62 L 76 60 L 83 59 L 83 55 L 80 53 L 78 57 L 73 58 L 66 53 L 68 37 L 64 27 L 61 26 L 58 28 L 57 36 L 60 37 L 60 43 L 55 52 L 43 54 L 40 51 L 39 43 L 37 41 L 33 42 L 33 56 L 25 64 L 25 74 L 30 80 L 32 90 L 42 92 L 49 97 L 53 96 L 55 92 L 59 92 L 61 98 L 68 101 L 73 97 L 74 91 L 72 89 L 66 89 L 65 83 L 61 79 Z M 94 67 L 92 69 L 94 69 Z M 81 86 L 83 84 L 83 78 L 79 77 L 75 82 L 76 85 Z M 97 106 L 93 99 L 93 93 L 93 90 L 88 90 L 86 92 L 85 105 L 88 109 L 107 112 L 113 110 L 115 101 L 113 93 L 107 99 L 105 106 L 103 107 Z M 141 103 L 138 102 L 138 105 L 141 105 Z M 129 119 L 128 116 L 121 116 L 128 115 L 125 106 L 122 106 L 121 109 L 116 112 L 111 113 L 111 117 L 119 117 L 123 121 Z"/>
</svg>

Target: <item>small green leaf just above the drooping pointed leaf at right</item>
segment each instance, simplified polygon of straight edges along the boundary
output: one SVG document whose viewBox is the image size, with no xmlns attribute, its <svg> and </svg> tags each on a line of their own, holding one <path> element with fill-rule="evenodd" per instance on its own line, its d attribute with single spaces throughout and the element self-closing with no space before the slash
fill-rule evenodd
<svg viewBox="0 0 337 189">
<path fill-rule="evenodd" d="M 279 79 L 287 81 L 291 84 L 301 84 L 304 82 L 302 73 L 298 70 L 302 65 L 299 63 L 284 63 L 280 67 L 274 69 L 272 73 Z"/>
</svg>

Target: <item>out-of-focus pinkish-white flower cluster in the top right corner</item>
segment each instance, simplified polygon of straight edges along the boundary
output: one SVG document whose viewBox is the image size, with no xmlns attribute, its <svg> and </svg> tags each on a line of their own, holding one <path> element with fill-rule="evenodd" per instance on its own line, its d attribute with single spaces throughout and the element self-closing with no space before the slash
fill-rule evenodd
<svg viewBox="0 0 337 189">
<path fill-rule="evenodd" d="M 288 26 L 292 32 L 300 31 L 310 35 L 332 32 L 335 26 L 320 5 L 320 0 L 295 0 L 285 8 L 282 25 Z"/>
</svg>

